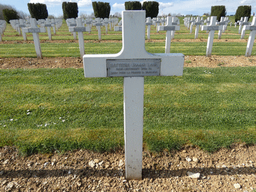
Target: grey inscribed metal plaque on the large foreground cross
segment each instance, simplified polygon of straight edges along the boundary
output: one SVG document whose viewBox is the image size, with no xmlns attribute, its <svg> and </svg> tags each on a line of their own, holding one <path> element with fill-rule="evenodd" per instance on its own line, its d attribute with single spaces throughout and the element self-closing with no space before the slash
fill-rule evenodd
<svg viewBox="0 0 256 192">
<path fill-rule="evenodd" d="M 160 76 L 160 59 L 107 60 L 108 77 Z"/>
</svg>

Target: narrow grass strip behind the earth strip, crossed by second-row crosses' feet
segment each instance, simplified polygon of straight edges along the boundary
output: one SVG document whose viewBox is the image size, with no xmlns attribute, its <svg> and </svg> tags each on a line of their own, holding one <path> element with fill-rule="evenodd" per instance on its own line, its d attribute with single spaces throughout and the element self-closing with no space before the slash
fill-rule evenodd
<svg viewBox="0 0 256 192">
<path fill-rule="evenodd" d="M 184 55 L 205 55 L 207 42 L 172 42 L 170 52 L 181 52 Z M 164 53 L 165 42 L 150 42 L 145 44 L 145 49 L 150 53 Z M 43 57 L 79 57 L 79 44 L 45 43 L 41 44 Z M 84 44 L 85 54 L 115 54 L 122 49 L 122 43 L 87 43 Z M 214 42 L 212 55 L 244 55 L 246 42 Z M 0 47 L 2 57 L 30 57 L 35 58 L 33 44 L 2 44 Z M 252 55 L 256 49 L 252 50 Z"/>
</svg>

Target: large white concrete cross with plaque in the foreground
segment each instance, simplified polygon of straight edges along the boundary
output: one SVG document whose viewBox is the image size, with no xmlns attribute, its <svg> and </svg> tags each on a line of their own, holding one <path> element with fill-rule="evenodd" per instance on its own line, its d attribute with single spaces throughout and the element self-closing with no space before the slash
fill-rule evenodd
<svg viewBox="0 0 256 192">
<path fill-rule="evenodd" d="M 122 50 L 83 56 L 85 77 L 124 77 L 125 177 L 142 178 L 144 76 L 182 76 L 183 54 L 145 50 L 145 11 L 123 11 Z"/>
</svg>

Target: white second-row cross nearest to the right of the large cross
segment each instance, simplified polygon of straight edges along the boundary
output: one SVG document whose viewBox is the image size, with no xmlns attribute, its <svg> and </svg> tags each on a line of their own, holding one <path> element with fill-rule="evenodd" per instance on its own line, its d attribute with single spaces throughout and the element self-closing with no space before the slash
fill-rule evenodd
<svg viewBox="0 0 256 192">
<path fill-rule="evenodd" d="M 166 26 L 158 26 L 159 31 L 166 31 L 165 38 L 165 53 L 170 53 L 172 31 L 179 31 L 180 26 L 174 26 L 172 23 L 173 17 L 167 17 Z"/>
</svg>

